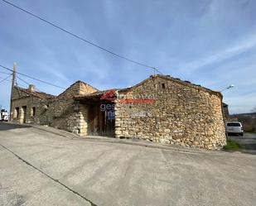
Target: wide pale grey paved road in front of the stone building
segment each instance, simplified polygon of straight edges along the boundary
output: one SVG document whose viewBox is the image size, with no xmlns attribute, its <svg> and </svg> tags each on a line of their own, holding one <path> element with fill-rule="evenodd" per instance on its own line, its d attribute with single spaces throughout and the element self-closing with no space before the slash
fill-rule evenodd
<svg viewBox="0 0 256 206">
<path fill-rule="evenodd" d="M 0 123 L 0 205 L 256 203 L 255 155 L 56 134 Z"/>
</svg>

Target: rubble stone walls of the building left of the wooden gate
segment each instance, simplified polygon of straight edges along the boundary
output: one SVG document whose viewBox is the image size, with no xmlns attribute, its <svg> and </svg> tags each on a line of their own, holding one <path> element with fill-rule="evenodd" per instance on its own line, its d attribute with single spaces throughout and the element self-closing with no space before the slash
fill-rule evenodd
<svg viewBox="0 0 256 206">
<path fill-rule="evenodd" d="M 24 89 L 26 92 L 22 90 L 17 87 L 13 90 L 12 122 L 47 125 L 80 136 L 87 135 L 87 108 L 75 102 L 73 97 L 84 93 L 94 93 L 97 89 L 79 81 L 54 98 L 39 98 L 37 96 L 42 96 L 40 93 L 27 93 L 27 90 Z M 26 115 L 24 115 L 25 107 Z M 16 108 L 19 111 L 18 117 Z M 35 113 L 33 113 L 33 108 Z"/>
</svg>

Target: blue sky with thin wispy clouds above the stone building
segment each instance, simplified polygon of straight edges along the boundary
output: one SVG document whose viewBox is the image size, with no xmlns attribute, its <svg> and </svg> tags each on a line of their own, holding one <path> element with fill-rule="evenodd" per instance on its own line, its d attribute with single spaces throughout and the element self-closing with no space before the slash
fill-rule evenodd
<svg viewBox="0 0 256 206">
<path fill-rule="evenodd" d="M 254 0 L 8 0 L 99 46 L 164 74 L 225 90 L 230 113 L 256 106 Z M 64 88 L 80 79 L 98 89 L 123 88 L 153 74 L 85 44 L 0 1 L 0 65 Z M 0 81 L 7 70 L 0 68 Z M 62 89 L 20 76 L 46 93 Z M 17 84 L 25 85 L 17 79 Z M 9 108 L 11 82 L 0 83 Z"/>
</svg>

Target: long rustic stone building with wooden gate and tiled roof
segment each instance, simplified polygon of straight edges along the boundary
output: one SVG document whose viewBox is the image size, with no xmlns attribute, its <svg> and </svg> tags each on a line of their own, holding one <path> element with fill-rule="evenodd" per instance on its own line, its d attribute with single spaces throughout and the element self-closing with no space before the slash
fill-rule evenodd
<svg viewBox="0 0 256 206">
<path fill-rule="evenodd" d="M 82 137 L 139 138 L 205 149 L 226 144 L 221 93 L 160 74 L 106 91 L 78 81 L 58 96 L 33 86 L 15 87 L 11 118 Z"/>
</svg>

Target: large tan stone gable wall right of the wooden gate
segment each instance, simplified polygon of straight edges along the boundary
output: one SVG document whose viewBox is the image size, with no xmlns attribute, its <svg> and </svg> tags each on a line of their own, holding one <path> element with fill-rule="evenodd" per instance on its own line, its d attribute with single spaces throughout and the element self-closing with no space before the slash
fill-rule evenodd
<svg viewBox="0 0 256 206">
<path fill-rule="evenodd" d="M 115 105 L 116 137 L 217 149 L 226 144 L 222 96 L 200 86 L 152 76 L 127 91 Z M 154 98 L 155 103 L 120 103 L 121 98 Z"/>
</svg>

